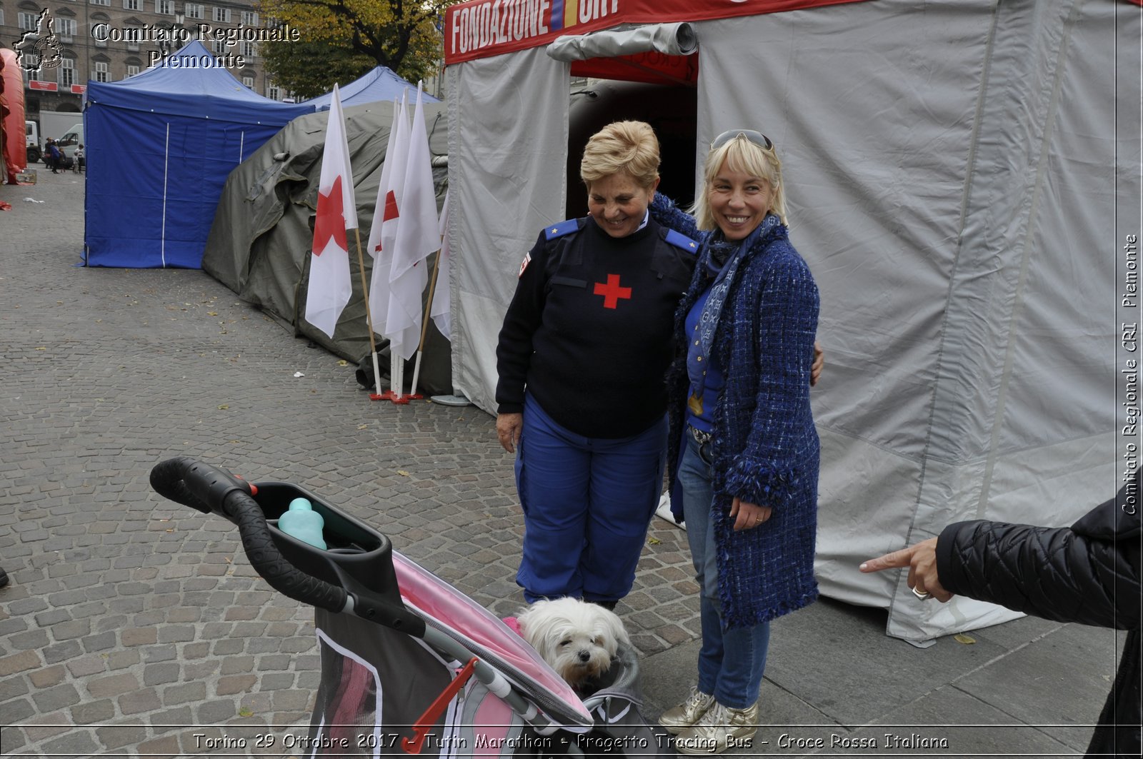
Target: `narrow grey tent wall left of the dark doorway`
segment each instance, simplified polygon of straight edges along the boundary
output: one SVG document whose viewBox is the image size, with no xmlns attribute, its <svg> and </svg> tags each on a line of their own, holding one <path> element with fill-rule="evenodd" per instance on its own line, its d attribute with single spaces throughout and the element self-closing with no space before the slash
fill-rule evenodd
<svg viewBox="0 0 1143 759">
<path fill-rule="evenodd" d="M 449 67 L 453 384 L 495 413 L 496 339 L 520 262 L 562 218 L 568 64 L 543 48 Z"/>
</svg>

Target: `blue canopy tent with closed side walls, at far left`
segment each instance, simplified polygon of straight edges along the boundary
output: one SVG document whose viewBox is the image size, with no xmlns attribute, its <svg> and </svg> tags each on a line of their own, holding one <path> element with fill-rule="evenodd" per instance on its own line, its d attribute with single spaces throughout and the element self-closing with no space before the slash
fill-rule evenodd
<svg viewBox="0 0 1143 759">
<path fill-rule="evenodd" d="M 312 112 L 243 87 L 198 41 L 123 81 L 89 81 L 86 264 L 199 269 L 231 169 Z"/>
</svg>

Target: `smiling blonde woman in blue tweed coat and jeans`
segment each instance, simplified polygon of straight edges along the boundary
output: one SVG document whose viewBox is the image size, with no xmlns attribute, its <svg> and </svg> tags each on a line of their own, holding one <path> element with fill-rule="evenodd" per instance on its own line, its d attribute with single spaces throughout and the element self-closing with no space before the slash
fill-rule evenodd
<svg viewBox="0 0 1143 759">
<path fill-rule="evenodd" d="M 817 598 L 817 286 L 789 240 L 769 138 L 722 133 L 703 175 L 694 216 L 662 195 L 650 205 L 701 241 L 669 376 L 671 504 L 687 525 L 702 625 L 697 686 L 660 717 L 680 753 L 719 753 L 757 732 L 769 623 Z"/>
</svg>

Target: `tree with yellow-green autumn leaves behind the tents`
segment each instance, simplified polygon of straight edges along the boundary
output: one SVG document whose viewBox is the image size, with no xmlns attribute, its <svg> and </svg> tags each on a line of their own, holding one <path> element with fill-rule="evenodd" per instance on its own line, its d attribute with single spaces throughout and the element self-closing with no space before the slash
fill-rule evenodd
<svg viewBox="0 0 1143 759">
<path fill-rule="evenodd" d="M 262 13 L 296 27 L 298 42 L 263 42 L 266 73 L 302 98 L 374 66 L 417 81 L 441 57 L 445 8 L 459 0 L 262 0 Z"/>
</svg>

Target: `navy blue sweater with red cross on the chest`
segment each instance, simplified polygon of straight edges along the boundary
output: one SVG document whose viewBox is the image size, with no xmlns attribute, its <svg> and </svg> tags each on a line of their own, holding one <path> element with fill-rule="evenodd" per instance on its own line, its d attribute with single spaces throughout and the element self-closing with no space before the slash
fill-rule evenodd
<svg viewBox="0 0 1143 759">
<path fill-rule="evenodd" d="M 613 238 L 591 218 L 528 254 L 496 347 L 501 414 L 525 388 L 560 425 L 589 438 L 638 434 L 666 410 L 679 298 L 695 256 L 654 222 Z"/>
</svg>

